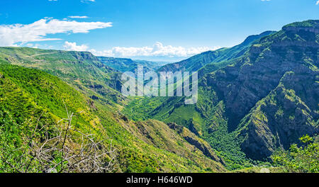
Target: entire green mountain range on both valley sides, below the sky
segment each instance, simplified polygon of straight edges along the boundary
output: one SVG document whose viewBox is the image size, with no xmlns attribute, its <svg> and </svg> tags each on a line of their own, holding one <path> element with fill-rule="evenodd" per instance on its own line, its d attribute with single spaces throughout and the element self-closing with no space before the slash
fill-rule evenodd
<svg viewBox="0 0 319 187">
<path fill-rule="evenodd" d="M 15 146 L 36 119 L 55 125 L 65 118 L 66 105 L 79 116 L 74 127 L 111 137 L 118 172 L 223 172 L 269 164 L 277 149 L 318 135 L 318 50 L 319 21 L 291 23 L 173 64 L 0 47 L 0 126 L 15 127 Z M 121 74 L 138 64 L 145 71 L 198 72 L 198 102 L 125 98 Z"/>
</svg>

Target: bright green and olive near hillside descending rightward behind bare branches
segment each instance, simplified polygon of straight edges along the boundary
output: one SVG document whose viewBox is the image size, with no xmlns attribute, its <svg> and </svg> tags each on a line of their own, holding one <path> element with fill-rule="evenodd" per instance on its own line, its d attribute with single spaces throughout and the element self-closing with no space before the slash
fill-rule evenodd
<svg viewBox="0 0 319 187">
<path fill-rule="evenodd" d="M 16 149 L 23 145 L 22 135 L 32 133 L 30 129 L 33 130 L 36 124 L 55 128 L 57 121 L 66 118 L 66 105 L 68 111 L 76 115 L 72 127 L 111 138 L 118 150 L 117 171 L 225 171 L 211 148 L 207 148 L 211 150 L 211 154 L 207 154 L 204 149 L 196 147 L 198 143 L 192 145 L 164 123 L 130 122 L 59 78 L 40 70 L 1 64 L 0 88 L 0 140 L 5 143 L 2 146 L 10 145 Z M 141 128 L 145 130 L 141 131 Z M 145 132 L 150 135 L 144 136 Z M 74 139 L 75 145 L 77 141 Z M 203 140 L 196 141 L 201 142 L 202 147 L 208 145 Z M 8 149 L 2 146 L 0 149 Z M 0 170 L 4 164 L 1 161 Z"/>
</svg>

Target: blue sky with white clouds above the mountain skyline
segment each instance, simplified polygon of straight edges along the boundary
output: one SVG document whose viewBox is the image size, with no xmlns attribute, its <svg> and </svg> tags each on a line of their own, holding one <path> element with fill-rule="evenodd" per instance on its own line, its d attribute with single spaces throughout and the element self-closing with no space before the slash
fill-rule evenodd
<svg viewBox="0 0 319 187">
<path fill-rule="evenodd" d="M 177 61 L 308 19 L 318 0 L 6 0 L 0 45 Z"/>
</svg>

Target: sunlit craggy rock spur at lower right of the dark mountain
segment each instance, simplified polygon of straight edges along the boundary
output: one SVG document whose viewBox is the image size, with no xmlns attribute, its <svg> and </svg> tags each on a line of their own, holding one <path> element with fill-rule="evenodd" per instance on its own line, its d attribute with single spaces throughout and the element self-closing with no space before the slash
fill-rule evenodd
<svg viewBox="0 0 319 187">
<path fill-rule="evenodd" d="M 247 135 L 242 149 L 248 156 L 263 159 L 278 147 L 288 149 L 303 135 L 318 133 L 319 116 L 314 103 L 318 104 L 319 92 L 312 88 L 319 85 L 312 80 L 310 75 L 285 74 L 279 86 L 257 103 L 242 123 L 247 125 L 241 132 Z"/>
</svg>

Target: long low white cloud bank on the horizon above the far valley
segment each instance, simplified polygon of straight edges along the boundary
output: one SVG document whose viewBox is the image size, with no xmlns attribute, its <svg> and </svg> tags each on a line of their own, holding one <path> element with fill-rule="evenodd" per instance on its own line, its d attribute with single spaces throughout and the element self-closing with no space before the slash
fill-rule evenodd
<svg viewBox="0 0 319 187">
<path fill-rule="evenodd" d="M 173 47 L 156 42 L 152 47 L 113 47 L 111 50 L 89 50 L 94 55 L 106 57 L 189 57 L 220 47 Z"/>
</svg>

